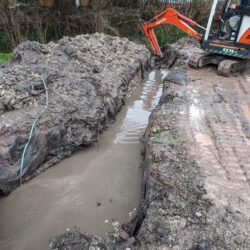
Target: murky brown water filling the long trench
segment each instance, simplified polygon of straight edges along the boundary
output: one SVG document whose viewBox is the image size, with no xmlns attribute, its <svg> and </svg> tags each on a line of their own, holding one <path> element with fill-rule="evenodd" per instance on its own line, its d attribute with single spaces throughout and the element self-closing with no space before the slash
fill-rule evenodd
<svg viewBox="0 0 250 250">
<path fill-rule="evenodd" d="M 166 72 L 153 71 L 127 100 L 97 146 L 77 153 L 0 200 L 0 249 L 48 249 L 78 226 L 105 235 L 138 207 L 141 143 Z"/>
</svg>

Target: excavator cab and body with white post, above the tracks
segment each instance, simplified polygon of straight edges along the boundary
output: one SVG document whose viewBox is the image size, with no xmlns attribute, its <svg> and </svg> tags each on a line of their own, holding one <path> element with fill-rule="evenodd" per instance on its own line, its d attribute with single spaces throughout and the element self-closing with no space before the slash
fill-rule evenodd
<svg viewBox="0 0 250 250">
<path fill-rule="evenodd" d="M 231 3 L 232 0 L 225 1 L 220 27 L 227 27 L 220 28 L 216 36 L 211 31 L 218 6 L 218 0 L 214 1 L 201 47 L 212 54 L 250 59 L 250 0 L 241 1 L 234 9 Z M 223 31 L 227 33 L 224 37 L 221 36 Z"/>
</svg>

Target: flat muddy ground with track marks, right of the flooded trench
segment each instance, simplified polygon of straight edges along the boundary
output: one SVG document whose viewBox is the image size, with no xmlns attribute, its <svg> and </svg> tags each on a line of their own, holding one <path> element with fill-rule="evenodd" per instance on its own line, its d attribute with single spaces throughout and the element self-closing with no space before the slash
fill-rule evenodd
<svg viewBox="0 0 250 250">
<path fill-rule="evenodd" d="M 141 209 L 116 241 L 76 230 L 52 249 L 250 249 L 250 77 L 188 69 L 199 51 L 189 39 L 166 49 L 171 74 L 145 133 Z"/>
</svg>

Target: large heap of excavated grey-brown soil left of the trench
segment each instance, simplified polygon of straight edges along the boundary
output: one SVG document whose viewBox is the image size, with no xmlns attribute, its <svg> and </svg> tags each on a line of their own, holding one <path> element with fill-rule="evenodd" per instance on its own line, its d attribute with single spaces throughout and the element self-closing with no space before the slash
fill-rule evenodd
<svg viewBox="0 0 250 250">
<path fill-rule="evenodd" d="M 149 59 L 144 46 L 99 33 L 20 44 L 13 62 L 0 67 L 0 193 L 18 185 L 21 152 L 45 103 L 42 78 L 49 107 L 27 151 L 24 179 L 95 142 Z"/>
</svg>

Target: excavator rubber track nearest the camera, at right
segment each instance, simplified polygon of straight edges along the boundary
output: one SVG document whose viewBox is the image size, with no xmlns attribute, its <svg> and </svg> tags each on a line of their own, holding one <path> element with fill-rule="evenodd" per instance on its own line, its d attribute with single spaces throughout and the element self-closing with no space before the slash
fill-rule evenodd
<svg viewBox="0 0 250 250">
<path fill-rule="evenodd" d="M 243 71 L 246 66 L 246 61 L 223 60 L 219 64 L 218 75 L 229 77 L 233 73 Z"/>
</svg>

